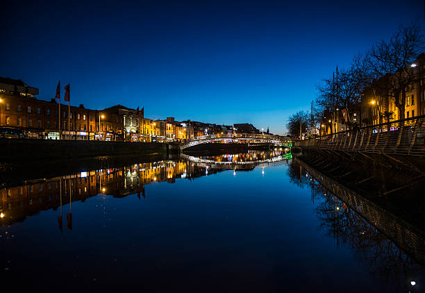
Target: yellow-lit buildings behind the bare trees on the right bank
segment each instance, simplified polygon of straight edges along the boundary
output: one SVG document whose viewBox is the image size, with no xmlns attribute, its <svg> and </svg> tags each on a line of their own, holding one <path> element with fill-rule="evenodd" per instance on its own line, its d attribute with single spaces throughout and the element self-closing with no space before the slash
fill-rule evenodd
<svg viewBox="0 0 425 293">
<path fill-rule="evenodd" d="M 411 78 L 412 83 L 405 89 L 406 103 L 403 116 L 405 119 L 409 119 L 425 115 L 425 54 L 420 54 L 406 71 L 413 77 Z M 401 102 L 401 97 L 399 99 Z M 323 116 L 320 124 L 320 135 L 346 131 L 349 128 L 345 122 L 342 109 L 327 110 Z M 363 92 L 360 104 L 356 105 L 349 113 L 351 127 L 374 126 L 396 121 L 401 117 L 400 109 L 396 106 L 396 98 L 393 94 L 388 92 L 378 93 L 371 88 L 367 88 Z"/>
</svg>

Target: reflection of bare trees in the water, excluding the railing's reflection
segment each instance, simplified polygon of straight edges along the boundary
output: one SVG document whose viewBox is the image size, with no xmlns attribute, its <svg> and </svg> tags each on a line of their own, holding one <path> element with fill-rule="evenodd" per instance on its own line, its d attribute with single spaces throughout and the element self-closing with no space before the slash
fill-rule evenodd
<svg viewBox="0 0 425 293">
<path fill-rule="evenodd" d="M 338 194 L 331 193 L 297 162 L 290 164 L 288 175 L 295 185 L 311 190 L 311 201 L 319 219 L 319 228 L 328 237 L 333 237 L 336 246 L 349 245 L 354 258 L 365 262 L 373 275 L 382 278 L 383 283 L 397 285 L 394 292 L 420 290 L 412 286 L 412 282 L 415 285 L 425 282 L 424 264 L 421 265 L 422 261 L 415 257 L 421 258 L 418 251 L 400 249 L 397 238 L 392 239 L 383 233 L 380 225 L 370 223 L 367 217 L 344 203 Z M 396 227 L 392 225 L 391 228 Z M 406 236 L 406 233 L 403 234 Z"/>
</svg>

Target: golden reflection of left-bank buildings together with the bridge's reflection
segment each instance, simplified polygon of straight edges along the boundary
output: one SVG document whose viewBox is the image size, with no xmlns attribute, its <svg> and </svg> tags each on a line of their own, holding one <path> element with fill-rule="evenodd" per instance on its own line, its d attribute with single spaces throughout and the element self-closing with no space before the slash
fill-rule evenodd
<svg viewBox="0 0 425 293">
<path fill-rule="evenodd" d="M 42 210 L 56 210 L 72 201 L 85 201 L 99 194 L 118 198 L 137 194 L 140 199 L 141 196 L 146 196 L 144 186 L 151 183 L 174 183 L 176 178 L 194 180 L 229 169 L 228 167 L 252 170 L 258 165 L 265 167 L 290 158 L 291 153 L 278 149 L 226 154 L 206 159 L 183 155 L 181 160 L 144 162 L 127 167 L 24 181 L 22 185 L 0 189 L 0 226 L 24 221 L 26 217 L 36 215 Z"/>
</svg>

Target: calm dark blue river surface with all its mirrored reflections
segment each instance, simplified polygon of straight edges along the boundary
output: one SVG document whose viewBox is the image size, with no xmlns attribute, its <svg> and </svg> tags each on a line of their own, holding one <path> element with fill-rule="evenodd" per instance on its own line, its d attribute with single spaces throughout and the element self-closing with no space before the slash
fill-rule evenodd
<svg viewBox="0 0 425 293">
<path fill-rule="evenodd" d="M 424 292 L 411 251 L 282 150 L 58 170 L 0 192 L 15 289 Z"/>
</svg>

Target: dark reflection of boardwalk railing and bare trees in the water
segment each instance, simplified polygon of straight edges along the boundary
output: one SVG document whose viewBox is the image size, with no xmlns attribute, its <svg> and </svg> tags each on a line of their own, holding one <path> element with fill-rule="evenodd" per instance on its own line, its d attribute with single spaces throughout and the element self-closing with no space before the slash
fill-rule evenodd
<svg viewBox="0 0 425 293">
<path fill-rule="evenodd" d="M 355 256 L 395 292 L 415 291 L 425 281 L 425 235 L 383 208 L 328 178 L 301 160 L 288 169 L 292 182 L 309 187 L 316 215 L 336 245 L 349 244 Z M 413 282 L 413 283 L 412 283 Z"/>
</svg>

